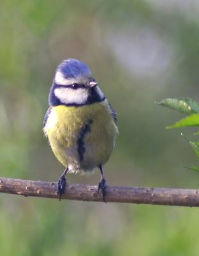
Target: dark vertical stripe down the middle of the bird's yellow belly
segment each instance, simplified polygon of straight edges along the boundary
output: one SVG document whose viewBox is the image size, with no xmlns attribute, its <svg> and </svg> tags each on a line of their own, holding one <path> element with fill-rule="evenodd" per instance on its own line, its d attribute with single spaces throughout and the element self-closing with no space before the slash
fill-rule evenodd
<svg viewBox="0 0 199 256">
<path fill-rule="evenodd" d="M 77 140 L 77 152 L 80 157 L 80 162 L 82 162 L 84 159 L 84 153 L 85 153 L 84 138 L 85 138 L 85 134 L 91 131 L 91 124 L 92 124 L 92 120 L 89 120 L 89 122 L 80 131 L 79 138 Z"/>
</svg>

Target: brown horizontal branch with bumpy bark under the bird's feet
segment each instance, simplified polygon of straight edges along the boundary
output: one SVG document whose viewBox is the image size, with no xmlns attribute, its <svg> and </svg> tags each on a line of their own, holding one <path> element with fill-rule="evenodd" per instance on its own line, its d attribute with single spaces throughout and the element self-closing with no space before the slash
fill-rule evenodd
<svg viewBox="0 0 199 256">
<path fill-rule="evenodd" d="M 67 184 L 62 199 L 102 202 L 97 186 Z M 57 183 L 0 177 L 0 193 L 57 198 Z M 107 202 L 199 206 L 199 189 L 107 186 Z"/>
</svg>

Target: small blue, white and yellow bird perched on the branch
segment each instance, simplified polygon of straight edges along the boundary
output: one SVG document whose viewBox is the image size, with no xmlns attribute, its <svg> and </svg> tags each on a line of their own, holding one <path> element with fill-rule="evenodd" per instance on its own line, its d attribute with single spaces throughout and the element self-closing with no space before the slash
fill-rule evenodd
<svg viewBox="0 0 199 256">
<path fill-rule="evenodd" d="M 66 173 L 92 173 L 99 170 L 98 194 L 106 202 L 105 173 L 117 137 L 117 113 L 108 102 L 91 70 L 80 60 L 68 58 L 55 70 L 49 108 L 43 118 L 43 132 L 52 152 L 64 166 L 57 182 L 61 200 Z"/>
</svg>

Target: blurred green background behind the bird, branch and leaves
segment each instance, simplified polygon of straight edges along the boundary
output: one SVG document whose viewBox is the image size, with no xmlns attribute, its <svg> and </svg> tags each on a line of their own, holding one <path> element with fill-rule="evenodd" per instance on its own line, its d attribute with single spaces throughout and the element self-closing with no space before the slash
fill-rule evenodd
<svg viewBox="0 0 199 256">
<path fill-rule="evenodd" d="M 63 166 L 42 132 L 48 91 L 64 58 L 78 58 L 118 113 L 108 184 L 198 188 L 195 163 L 166 131 L 182 115 L 154 102 L 198 100 L 197 0 L 15 1 L 0 8 L 1 176 L 56 181 Z M 191 135 L 190 135 L 191 136 Z M 68 175 L 68 182 L 97 184 Z M 1 255 L 198 255 L 199 209 L 0 195 Z"/>
</svg>

